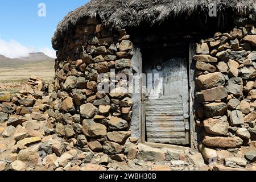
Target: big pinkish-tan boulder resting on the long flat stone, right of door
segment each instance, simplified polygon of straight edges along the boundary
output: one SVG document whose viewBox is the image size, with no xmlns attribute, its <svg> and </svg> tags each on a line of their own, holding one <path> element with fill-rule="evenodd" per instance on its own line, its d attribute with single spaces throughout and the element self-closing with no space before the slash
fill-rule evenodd
<svg viewBox="0 0 256 182">
<path fill-rule="evenodd" d="M 229 130 L 228 121 L 222 121 L 221 119 L 209 118 L 204 121 L 204 129 L 209 134 L 213 135 L 225 135 Z"/>
</svg>

